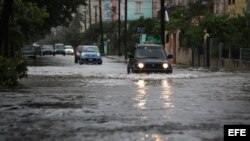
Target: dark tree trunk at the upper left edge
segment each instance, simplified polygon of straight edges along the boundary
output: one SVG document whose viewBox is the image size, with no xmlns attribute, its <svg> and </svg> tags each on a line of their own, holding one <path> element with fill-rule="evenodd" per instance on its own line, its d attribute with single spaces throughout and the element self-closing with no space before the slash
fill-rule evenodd
<svg viewBox="0 0 250 141">
<path fill-rule="evenodd" d="M 0 55 L 9 57 L 8 32 L 14 0 L 4 0 L 0 25 Z"/>
</svg>

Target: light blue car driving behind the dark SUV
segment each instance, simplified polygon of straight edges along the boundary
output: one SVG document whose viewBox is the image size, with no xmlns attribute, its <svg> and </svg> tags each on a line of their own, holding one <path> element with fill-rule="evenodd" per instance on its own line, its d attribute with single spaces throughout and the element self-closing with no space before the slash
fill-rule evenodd
<svg viewBox="0 0 250 141">
<path fill-rule="evenodd" d="M 102 57 L 98 46 L 94 45 L 83 45 L 80 47 L 81 54 L 79 58 L 79 64 L 93 63 L 102 64 Z"/>
</svg>

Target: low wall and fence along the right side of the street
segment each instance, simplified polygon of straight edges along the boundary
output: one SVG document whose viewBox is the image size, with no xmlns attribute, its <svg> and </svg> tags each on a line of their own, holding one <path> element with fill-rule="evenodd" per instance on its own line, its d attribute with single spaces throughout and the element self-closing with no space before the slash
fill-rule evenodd
<svg viewBox="0 0 250 141">
<path fill-rule="evenodd" d="M 210 38 L 206 53 L 207 55 L 204 55 L 204 46 L 200 48 L 180 47 L 176 50 L 176 63 L 197 67 L 250 71 L 249 48 L 224 47 L 224 44 L 217 39 Z"/>
</svg>

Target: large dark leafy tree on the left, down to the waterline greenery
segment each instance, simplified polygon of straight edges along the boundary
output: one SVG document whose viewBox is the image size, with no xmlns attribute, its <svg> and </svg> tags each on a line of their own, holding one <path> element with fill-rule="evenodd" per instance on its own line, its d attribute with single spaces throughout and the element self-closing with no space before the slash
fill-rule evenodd
<svg viewBox="0 0 250 141">
<path fill-rule="evenodd" d="M 85 0 L 0 0 L 0 88 L 25 76 L 26 64 L 18 54 L 23 44 L 53 26 L 69 25 L 81 4 Z"/>
</svg>

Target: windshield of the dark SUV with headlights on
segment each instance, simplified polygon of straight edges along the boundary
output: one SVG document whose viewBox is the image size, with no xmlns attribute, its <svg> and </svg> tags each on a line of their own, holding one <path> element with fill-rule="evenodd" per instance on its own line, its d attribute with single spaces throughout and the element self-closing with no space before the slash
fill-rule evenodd
<svg viewBox="0 0 250 141">
<path fill-rule="evenodd" d="M 167 59 L 164 49 L 158 46 L 140 46 L 135 50 L 136 58 Z"/>
</svg>

